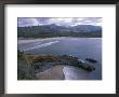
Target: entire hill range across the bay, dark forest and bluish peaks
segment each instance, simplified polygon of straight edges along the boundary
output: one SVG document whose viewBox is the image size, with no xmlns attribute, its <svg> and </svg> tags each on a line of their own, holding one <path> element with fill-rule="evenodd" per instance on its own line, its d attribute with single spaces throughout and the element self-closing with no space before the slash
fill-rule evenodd
<svg viewBox="0 0 119 97">
<path fill-rule="evenodd" d="M 79 37 L 101 38 L 102 27 L 92 25 L 77 25 L 71 27 L 43 25 L 31 27 L 17 27 L 17 37 L 23 38 L 51 38 L 51 37 Z"/>
</svg>

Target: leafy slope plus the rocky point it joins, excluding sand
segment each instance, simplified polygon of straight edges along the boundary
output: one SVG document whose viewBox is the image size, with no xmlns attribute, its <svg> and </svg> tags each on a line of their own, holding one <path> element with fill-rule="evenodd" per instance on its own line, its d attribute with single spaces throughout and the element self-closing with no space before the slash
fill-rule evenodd
<svg viewBox="0 0 119 97">
<path fill-rule="evenodd" d="M 17 51 L 17 79 L 18 80 L 36 80 L 36 70 L 43 71 L 44 67 L 68 65 L 75 66 L 90 72 L 94 70 L 94 66 L 84 64 L 78 60 L 77 57 L 62 55 L 26 55 L 21 51 Z M 49 67 L 50 65 L 50 67 Z"/>
</svg>

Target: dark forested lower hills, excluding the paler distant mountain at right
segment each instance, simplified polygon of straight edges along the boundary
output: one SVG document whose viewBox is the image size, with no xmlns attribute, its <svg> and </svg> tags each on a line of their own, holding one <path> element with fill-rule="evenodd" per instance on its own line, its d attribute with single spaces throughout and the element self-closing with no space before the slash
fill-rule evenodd
<svg viewBox="0 0 119 97">
<path fill-rule="evenodd" d="M 79 38 L 101 38 L 102 30 L 84 32 L 74 32 L 64 27 L 52 26 L 31 26 L 31 27 L 18 27 L 17 37 L 23 38 L 52 38 L 52 37 L 79 37 Z"/>
</svg>

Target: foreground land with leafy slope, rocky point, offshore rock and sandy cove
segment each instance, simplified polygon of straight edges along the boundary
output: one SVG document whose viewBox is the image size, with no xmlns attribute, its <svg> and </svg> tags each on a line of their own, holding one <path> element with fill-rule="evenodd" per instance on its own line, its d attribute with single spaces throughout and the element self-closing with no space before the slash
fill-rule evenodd
<svg viewBox="0 0 119 97">
<path fill-rule="evenodd" d="M 58 79 L 63 80 L 63 67 L 74 66 L 88 72 L 95 70 L 94 59 L 82 60 L 69 55 L 30 55 L 18 51 L 17 54 L 17 79 L 36 80 L 36 79 Z M 56 75 L 57 77 L 56 77 Z M 49 78 L 50 77 L 50 78 Z"/>
</svg>

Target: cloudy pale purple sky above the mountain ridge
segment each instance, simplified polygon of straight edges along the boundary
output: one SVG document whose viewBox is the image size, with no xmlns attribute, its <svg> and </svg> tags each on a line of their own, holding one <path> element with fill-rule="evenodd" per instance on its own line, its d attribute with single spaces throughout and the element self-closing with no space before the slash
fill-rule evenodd
<svg viewBox="0 0 119 97">
<path fill-rule="evenodd" d="M 17 26 L 41 26 L 55 24 L 57 26 L 94 25 L 102 26 L 102 17 L 18 17 Z"/>
</svg>

